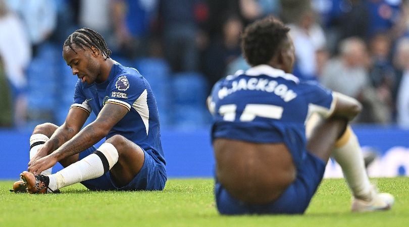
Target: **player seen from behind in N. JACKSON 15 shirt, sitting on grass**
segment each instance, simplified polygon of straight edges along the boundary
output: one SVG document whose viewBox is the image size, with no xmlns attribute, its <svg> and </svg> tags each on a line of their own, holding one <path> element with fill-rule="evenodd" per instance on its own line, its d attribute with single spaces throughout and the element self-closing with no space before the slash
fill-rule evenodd
<svg viewBox="0 0 409 227">
<path fill-rule="evenodd" d="M 394 198 L 370 184 L 348 125 L 361 104 L 290 74 L 294 46 L 288 31 L 272 17 L 250 24 L 242 52 L 252 67 L 221 79 L 208 98 L 219 212 L 304 213 L 330 155 L 352 192 L 352 211 L 390 209 Z"/>
</svg>

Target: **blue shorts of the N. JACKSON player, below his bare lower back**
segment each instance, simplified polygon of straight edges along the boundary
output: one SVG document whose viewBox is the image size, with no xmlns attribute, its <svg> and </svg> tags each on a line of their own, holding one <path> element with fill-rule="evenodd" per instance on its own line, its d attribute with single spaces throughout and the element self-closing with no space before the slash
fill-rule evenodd
<svg viewBox="0 0 409 227">
<path fill-rule="evenodd" d="M 216 180 L 217 209 L 221 214 L 302 214 L 310 204 L 324 177 L 325 163 L 306 152 L 306 157 L 297 169 L 297 178 L 275 201 L 263 204 L 246 204 L 233 198 Z"/>
</svg>

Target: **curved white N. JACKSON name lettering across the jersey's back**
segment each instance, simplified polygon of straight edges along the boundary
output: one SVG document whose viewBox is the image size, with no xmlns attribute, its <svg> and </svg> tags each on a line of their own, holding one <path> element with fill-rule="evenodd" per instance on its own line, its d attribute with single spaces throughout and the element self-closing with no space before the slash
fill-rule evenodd
<svg viewBox="0 0 409 227">
<path fill-rule="evenodd" d="M 281 97 L 285 102 L 289 102 L 295 97 L 297 97 L 297 93 L 293 90 L 288 89 L 287 85 L 285 84 L 278 84 L 275 80 L 268 80 L 268 79 L 258 79 L 258 78 L 250 78 L 240 79 L 238 82 L 233 81 L 232 87 L 222 87 L 219 90 L 218 96 L 220 99 L 225 98 L 227 95 L 230 95 L 236 91 L 240 90 L 257 90 L 257 91 L 266 91 L 269 93 L 274 93 L 275 95 Z"/>
</svg>

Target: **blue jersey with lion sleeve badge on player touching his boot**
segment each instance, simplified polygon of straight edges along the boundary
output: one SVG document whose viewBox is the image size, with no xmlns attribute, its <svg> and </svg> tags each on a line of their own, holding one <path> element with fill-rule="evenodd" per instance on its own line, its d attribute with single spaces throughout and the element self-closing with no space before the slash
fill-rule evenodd
<svg viewBox="0 0 409 227">
<path fill-rule="evenodd" d="M 136 69 L 115 62 L 105 82 L 77 81 L 71 107 L 88 113 L 93 111 L 98 116 L 106 103 L 119 104 L 129 110 L 106 138 L 122 135 L 144 150 L 153 150 L 156 158 L 165 164 L 156 99 L 146 79 Z"/>
</svg>

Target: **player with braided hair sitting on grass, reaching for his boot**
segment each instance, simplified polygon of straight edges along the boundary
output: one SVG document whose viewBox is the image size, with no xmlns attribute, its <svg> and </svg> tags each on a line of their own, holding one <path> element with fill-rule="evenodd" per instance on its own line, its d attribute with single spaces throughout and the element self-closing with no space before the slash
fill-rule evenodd
<svg viewBox="0 0 409 227">
<path fill-rule="evenodd" d="M 64 42 L 63 56 L 78 77 L 65 123 L 45 123 L 30 137 L 28 171 L 15 191 L 56 192 L 81 182 L 90 190 L 162 190 L 164 153 L 156 100 L 138 71 L 110 58 L 97 32 L 82 28 Z M 96 120 L 82 128 L 91 111 Z M 99 148 L 93 145 L 106 138 Z M 60 162 L 65 168 L 50 174 Z"/>
</svg>

